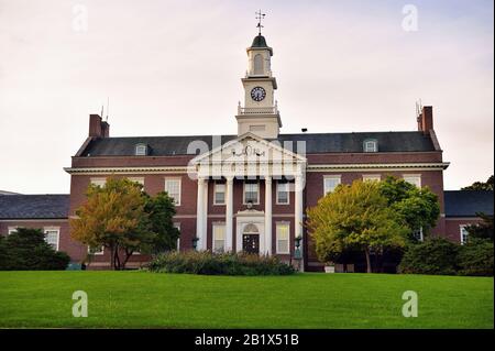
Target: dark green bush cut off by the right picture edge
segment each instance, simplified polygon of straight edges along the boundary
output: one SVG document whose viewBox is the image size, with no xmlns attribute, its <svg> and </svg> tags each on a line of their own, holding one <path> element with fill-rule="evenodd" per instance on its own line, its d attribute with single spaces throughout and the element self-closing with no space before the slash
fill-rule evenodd
<svg viewBox="0 0 495 351">
<path fill-rule="evenodd" d="M 459 253 L 459 274 L 493 276 L 493 242 L 469 238 Z"/>
</svg>

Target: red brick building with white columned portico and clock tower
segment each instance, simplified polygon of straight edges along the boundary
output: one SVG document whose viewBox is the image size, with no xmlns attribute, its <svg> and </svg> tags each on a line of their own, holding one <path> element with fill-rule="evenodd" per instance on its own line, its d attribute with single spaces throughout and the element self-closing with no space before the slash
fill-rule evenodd
<svg viewBox="0 0 495 351">
<path fill-rule="evenodd" d="M 235 134 L 114 138 L 110 125 L 91 114 L 88 138 L 65 168 L 70 174 L 68 216 L 85 201 L 89 184 L 103 186 L 111 175 L 128 177 L 148 194 L 166 190 L 174 197 L 182 251 L 191 250 L 197 238 L 198 250 L 248 251 L 285 261 L 301 252 L 305 270 L 321 270 L 302 226 L 305 209 L 340 183 L 393 175 L 438 195 L 441 216 L 432 232 L 455 240 L 446 232 L 443 171 L 449 164 L 442 160 L 431 107 L 418 111 L 417 131 L 284 134 L 273 50 L 257 35 L 246 52 Z M 84 260 L 88 250 L 69 239 L 66 221 L 58 249 L 74 261 Z M 95 264 L 107 265 L 107 254 L 99 252 Z M 146 259 L 136 254 L 131 264 Z"/>
</svg>

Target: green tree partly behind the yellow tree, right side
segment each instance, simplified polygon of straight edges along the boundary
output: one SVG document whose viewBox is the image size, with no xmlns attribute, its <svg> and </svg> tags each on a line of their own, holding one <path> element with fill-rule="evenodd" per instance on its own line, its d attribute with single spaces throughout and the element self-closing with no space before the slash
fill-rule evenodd
<svg viewBox="0 0 495 351">
<path fill-rule="evenodd" d="M 428 187 L 418 188 L 413 184 L 392 176 L 380 182 L 380 191 L 400 215 L 408 227 L 409 240 L 416 241 L 415 231 L 422 229 L 424 235 L 437 224 L 440 216 L 438 196 Z"/>
</svg>

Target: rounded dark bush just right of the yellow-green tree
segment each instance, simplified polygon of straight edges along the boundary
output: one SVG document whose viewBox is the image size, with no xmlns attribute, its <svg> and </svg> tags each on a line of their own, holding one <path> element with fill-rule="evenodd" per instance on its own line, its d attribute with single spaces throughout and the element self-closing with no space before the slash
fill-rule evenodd
<svg viewBox="0 0 495 351">
<path fill-rule="evenodd" d="M 443 238 L 409 244 L 398 266 L 399 273 L 454 275 L 460 245 Z"/>
</svg>

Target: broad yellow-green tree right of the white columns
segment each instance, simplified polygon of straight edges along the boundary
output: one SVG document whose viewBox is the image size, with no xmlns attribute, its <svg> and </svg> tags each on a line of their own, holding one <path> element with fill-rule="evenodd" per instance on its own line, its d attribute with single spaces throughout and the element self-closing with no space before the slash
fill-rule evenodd
<svg viewBox="0 0 495 351">
<path fill-rule="evenodd" d="M 360 250 L 371 273 L 371 251 L 405 245 L 407 224 L 388 206 L 375 182 L 356 180 L 340 185 L 308 210 L 307 226 L 315 239 L 320 261 L 329 261 L 345 250 Z"/>
</svg>

